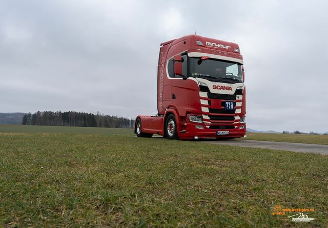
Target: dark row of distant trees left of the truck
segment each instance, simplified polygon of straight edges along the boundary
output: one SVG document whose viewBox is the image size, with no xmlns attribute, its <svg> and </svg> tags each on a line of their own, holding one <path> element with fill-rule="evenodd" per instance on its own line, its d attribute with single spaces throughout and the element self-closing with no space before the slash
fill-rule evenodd
<svg viewBox="0 0 328 228">
<path fill-rule="evenodd" d="M 97 112 L 52 112 L 28 113 L 23 116 L 22 125 L 100 127 L 100 128 L 133 128 L 134 119 L 104 115 Z"/>
</svg>

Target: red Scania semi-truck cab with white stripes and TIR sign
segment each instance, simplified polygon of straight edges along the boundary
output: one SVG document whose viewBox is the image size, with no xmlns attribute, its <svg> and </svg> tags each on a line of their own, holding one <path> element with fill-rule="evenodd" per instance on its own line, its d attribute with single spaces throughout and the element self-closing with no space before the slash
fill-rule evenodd
<svg viewBox="0 0 328 228">
<path fill-rule="evenodd" d="M 138 137 L 238 138 L 246 133 L 246 89 L 239 46 L 188 35 L 160 45 L 158 114 L 136 117 Z"/>
</svg>

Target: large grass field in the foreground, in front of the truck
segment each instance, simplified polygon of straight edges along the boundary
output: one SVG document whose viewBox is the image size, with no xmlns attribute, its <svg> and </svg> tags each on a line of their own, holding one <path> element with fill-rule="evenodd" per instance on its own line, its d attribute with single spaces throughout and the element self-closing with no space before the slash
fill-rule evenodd
<svg viewBox="0 0 328 228">
<path fill-rule="evenodd" d="M 0 126 L 0 227 L 328 226 L 328 156 L 23 127 Z"/>
</svg>

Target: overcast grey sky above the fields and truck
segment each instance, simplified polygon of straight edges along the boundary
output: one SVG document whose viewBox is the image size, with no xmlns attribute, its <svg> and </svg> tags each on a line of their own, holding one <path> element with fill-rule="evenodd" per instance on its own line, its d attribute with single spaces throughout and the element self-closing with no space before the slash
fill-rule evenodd
<svg viewBox="0 0 328 228">
<path fill-rule="evenodd" d="M 0 0 L 0 112 L 157 113 L 159 45 L 196 29 L 239 44 L 248 128 L 328 132 L 327 3 Z"/>
</svg>

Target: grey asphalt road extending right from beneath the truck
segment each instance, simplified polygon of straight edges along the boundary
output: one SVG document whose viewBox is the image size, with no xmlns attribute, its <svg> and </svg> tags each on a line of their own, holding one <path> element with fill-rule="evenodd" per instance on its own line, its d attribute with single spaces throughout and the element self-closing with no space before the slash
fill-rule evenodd
<svg viewBox="0 0 328 228">
<path fill-rule="evenodd" d="M 202 141 L 211 144 L 225 144 L 238 147 L 250 148 L 265 148 L 280 151 L 294 151 L 302 153 L 319 153 L 328 155 L 328 145 L 320 144 L 306 144 L 306 143 L 293 143 L 293 142 L 271 142 L 271 141 L 257 141 L 257 140 L 206 140 Z"/>
</svg>

